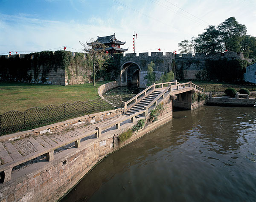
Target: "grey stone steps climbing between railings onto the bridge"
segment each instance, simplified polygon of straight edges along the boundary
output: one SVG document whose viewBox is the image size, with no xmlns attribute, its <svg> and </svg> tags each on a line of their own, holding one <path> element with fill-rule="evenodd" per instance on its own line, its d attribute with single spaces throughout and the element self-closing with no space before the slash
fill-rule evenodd
<svg viewBox="0 0 256 202">
<path fill-rule="evenodd" d="M 158 95 L 160 95 L 162 91 L 153 91 L 151 94 L 145 96 L 140 102 L 134 105 L 131 109 L 125 112 L 127 115 L 135 114 L 139 111 L 143 111 L 145 106 L 148 106 Z M 135 116 L 136 118 L 143 117 L 143 114 Z"/>
</svg>

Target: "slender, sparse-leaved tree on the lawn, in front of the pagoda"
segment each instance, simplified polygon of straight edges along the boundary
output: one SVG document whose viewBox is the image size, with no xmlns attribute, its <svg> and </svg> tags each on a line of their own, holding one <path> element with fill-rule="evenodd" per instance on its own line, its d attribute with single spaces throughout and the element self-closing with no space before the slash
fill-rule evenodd
<svg viewBox="0 0 256 202">
<path fill-rule="evenodd" d="M 83 43 L 80 42 L 81 46 L 83 46 L 83 49 L 89 57 L 92 60 L 93 64 L 93 86 L 95 86 L 96 81 L 95 81 L 95 75 L 99 70 L 104 69 L 104 63 L 108 59 L 108 54 L 105 51 L 106 46 L 102 43 L 99 43 L 96 41 L 93 41 L 93 39 L 90 39 L 89 43 Z"/>
</svg>

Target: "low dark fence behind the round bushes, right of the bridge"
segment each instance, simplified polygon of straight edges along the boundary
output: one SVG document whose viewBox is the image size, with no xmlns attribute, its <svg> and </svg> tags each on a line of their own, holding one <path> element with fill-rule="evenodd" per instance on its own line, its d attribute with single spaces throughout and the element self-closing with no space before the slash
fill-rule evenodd
<svg viewBox="0 0 256 202">
<path fill-rule="evenodd" d="M 205 92 L 225 92 L 227 88 L 235 88 L 239 91 L 241 88 L 247 88 L 249 91 L 256 91 L 256 85 L 199 85 Z"/>
</svg>

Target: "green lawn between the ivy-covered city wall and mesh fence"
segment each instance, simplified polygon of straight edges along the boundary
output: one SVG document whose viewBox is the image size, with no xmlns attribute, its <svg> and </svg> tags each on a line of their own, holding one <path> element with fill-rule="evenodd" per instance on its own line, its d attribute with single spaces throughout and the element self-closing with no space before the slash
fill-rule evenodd
<svg viewBox="0 0 256 202">
<path fill-rule="evenodd" d="M 0 114 L 11 110 L 23 112 L 31 107 L 61 105 L 64 102 L 93 100 L 99 97 L 99 86 L 108 82 L 97 82 L 95 89 L 92 83 L 61 86 L 0 82 Z"/>
</svg>

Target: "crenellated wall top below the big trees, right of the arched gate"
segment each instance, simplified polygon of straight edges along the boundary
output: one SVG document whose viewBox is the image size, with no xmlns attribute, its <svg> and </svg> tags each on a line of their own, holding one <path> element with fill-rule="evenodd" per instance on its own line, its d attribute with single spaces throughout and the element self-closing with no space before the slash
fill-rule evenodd
<svg viewBox="0 0 256 202">
<path fill-rule="evenodd" d="M 192 56 L 192 54 L 176 54 L 175 59 L 210 59 L 210 58 L 236 58 L 244 60 L 244 53 L 243 52 L 224 52 L 224 53 L 211 53 L 211 54 L 205 54 L 205 53 L 196 53 L 195 56 Z"/>
</svg>

